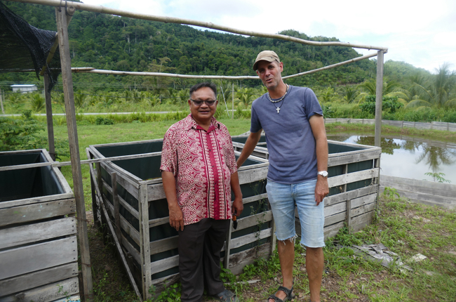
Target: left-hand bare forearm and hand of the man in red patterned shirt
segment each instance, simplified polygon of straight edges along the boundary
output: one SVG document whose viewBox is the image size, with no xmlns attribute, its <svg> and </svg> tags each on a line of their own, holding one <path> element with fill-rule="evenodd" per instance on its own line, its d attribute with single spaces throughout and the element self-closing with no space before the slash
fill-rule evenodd
<svg viewBox="0 0 456 302">
<path fill-rule="evenodd" d="M 176 180 L 172 172 L 162 171 L 163 189 L 168 201 L 169 223 L 176 230 L 184 230 L 184 216 L 177 202 Z"/>
</svg>

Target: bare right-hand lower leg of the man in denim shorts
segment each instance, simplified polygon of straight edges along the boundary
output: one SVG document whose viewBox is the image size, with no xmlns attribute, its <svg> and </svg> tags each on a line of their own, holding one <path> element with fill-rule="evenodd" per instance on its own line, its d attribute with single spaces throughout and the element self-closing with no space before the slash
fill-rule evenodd
<svg viewBox="0 0 456 302">
<path fill-rule="evenodd" d="M 323 248 L 307 247 L 306 270 L 309 277 L 310 301 L 320 302 L 321 278 L 323 277 L 323 265 L 325 258 Z"/>
</svg>

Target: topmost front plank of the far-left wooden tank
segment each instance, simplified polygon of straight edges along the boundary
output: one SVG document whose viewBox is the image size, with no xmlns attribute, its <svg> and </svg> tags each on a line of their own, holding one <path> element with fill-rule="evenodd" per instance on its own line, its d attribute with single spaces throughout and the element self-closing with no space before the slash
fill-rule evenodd
<svg viewBox="0 0 456 302">
<path fill-rule="evenodd" d="M 0 226 L 12 223 L 27 223 L 43 218 L 74 214 L 75 212 L 76 204 L 74 199 L 62 199 L 55 202 L 15 206 L 13 208 L 0 210 Z"/>
</svg>

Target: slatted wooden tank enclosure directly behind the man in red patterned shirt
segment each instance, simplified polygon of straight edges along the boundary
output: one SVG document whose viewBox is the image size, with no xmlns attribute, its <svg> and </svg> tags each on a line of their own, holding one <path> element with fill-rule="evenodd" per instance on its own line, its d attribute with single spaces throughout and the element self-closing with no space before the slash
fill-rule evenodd
<svg viewBox="0 0 456 302">
<path fill-rule="evenodd" d="M 128 159 L 90 166 L 94 216 L 107 225 L 124 258 L 130 282 L 142 298 L 163 290 L 164 282 L 179 280 L 177 231 L 171 228 L 163 191 L 161 148 L 163 140 L 91 145 L 88 158 L 131 155 Z M 239 152 L 235 152 L 239 156 Z M 244 211 L 236 230 L 230 228 L 222 249 L 224 267 L 240 273 L 256 258 L 267 257 L 275 247 L 265 190 L 267 160 L 249 157 L 239 169 Z"/>
</svg>

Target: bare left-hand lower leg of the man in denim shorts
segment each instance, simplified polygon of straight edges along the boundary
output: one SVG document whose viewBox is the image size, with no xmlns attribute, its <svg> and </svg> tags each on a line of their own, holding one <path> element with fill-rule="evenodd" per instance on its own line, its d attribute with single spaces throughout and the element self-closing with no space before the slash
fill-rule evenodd
<svg viewBox="0 0 456 302">
<path fill-rule="evenodd" d="M 282 286 L 290 289 L 293 287 L 293 263 L 295 262 L 295 242 L 290 239 L 280 241 L 278 240 L 277 251 L 279 252 L 279 261 L 283 277 Z M 282 300 L 286 298 L 283 291 L 277 291 L 276 297 Z M 274 300 L 269 299 L 269 302 Z"/>
</svg>

